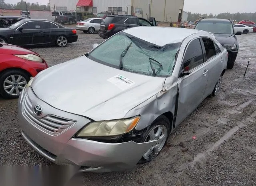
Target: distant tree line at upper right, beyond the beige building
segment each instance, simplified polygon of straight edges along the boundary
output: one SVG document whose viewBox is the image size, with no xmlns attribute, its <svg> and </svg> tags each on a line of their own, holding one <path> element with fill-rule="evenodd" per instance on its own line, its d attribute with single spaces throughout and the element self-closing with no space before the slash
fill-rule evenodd
<svg viewBox="0 0 256 186">
<path fill-rule="evenodd" d="M 200 14 L 200 13 L 191 13 L 188 12 L 188 21 L 196 21 L 200 16 L 204 16 L 207 18 L 220 18 L 220 19 L 229 19 L 236 20 L 237 22 L 242 20 L 251 20 L 253 22 L 256 22 L 256 12 L 255 13 L 221 13 L 218 15 L 213 14 Z"/>
</svg>

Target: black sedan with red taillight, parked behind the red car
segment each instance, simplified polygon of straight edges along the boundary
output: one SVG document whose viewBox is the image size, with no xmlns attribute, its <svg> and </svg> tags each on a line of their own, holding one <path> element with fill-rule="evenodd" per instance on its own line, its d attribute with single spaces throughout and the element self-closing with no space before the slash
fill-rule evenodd
<svg viewBox="0 0 256 186">
<path fill-rule="evenodd" d="M 0 28 L 0 43 L 17 46 L 65 47 L 76 42 L 78 36 L 73 28 L 49 20 L 24 19 L 8 28 Z"/>
</svg>

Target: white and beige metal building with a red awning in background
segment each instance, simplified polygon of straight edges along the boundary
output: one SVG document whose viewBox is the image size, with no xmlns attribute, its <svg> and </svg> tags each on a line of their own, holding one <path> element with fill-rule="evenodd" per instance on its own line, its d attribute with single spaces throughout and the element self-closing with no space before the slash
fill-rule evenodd
<svg viewBox="0 0 256 186">
<path fill-rule="evenodd" d="M 51 10 L 93 12 L 114 11 L 118 14 L 134 14 L 154 17 L 157 21 L 182 20 L 184 0 L 50 0 Z"/>
</svg>

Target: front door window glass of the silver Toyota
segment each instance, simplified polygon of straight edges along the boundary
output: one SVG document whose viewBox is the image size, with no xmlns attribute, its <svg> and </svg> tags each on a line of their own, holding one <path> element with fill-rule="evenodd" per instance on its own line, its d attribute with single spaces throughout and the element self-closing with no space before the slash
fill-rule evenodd
<svg viewBox="0 0 256 186">
<path fill-rule="evenodd" d="M 187 47 L 183 67 L 188 67 L 189 70 L 204 63 L 203 51 L 199 39 L 193 40 Z"/>
</svg>

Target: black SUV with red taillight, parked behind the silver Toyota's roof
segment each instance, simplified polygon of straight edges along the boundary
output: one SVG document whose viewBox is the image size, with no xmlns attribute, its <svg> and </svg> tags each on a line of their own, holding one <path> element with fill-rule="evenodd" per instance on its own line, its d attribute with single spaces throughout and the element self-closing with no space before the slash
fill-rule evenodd
<svg viewBox="0 0 256 186">
<path fill-rule="evenodd" d="M 136 26 L 157 26 L 155 18 L 150 21 L 130 15 L 107 16 L 100 24 L 99 36 L 108 39 L 114 34 Z"/>
</svg>

